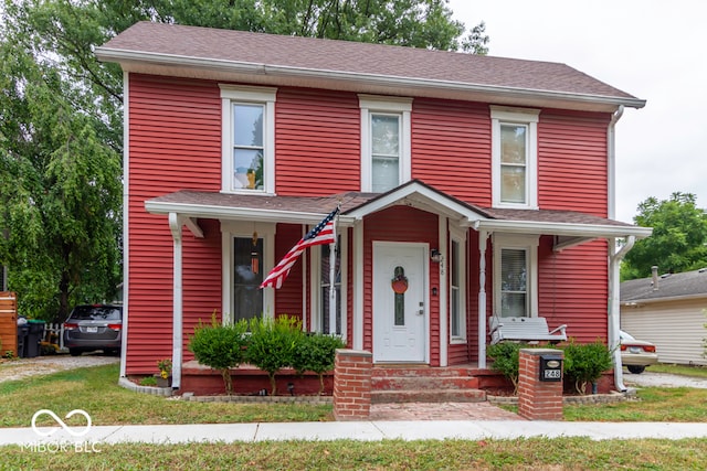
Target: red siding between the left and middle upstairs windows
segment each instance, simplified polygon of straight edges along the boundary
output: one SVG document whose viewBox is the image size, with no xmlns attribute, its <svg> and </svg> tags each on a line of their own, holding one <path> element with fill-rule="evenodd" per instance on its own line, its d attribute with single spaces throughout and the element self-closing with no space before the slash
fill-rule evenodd
<svg viewBox="0 0 707 471">
<path fill-rule="evenodd" d="M 281 88 L 275 107 L 277 194 L 360 190 L 361 118 L 356 94 Z"/>
</svg>

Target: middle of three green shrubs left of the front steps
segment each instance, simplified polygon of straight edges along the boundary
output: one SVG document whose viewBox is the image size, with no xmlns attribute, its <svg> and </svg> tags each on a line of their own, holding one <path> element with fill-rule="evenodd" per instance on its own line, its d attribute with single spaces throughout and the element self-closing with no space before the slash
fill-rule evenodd
<svg viewBox="0 0 707 471">
<path fill-rule="evenodd" d="M 275 320 L 253 318 L 250 328 L 247 361 L 267 373 L 271 395 L 274 396 L 277 394 L 275 375 L 294 364 L 295 347 L 305 335 L 302 322 L 289 315 L 281 315 Z"/>
</svg>

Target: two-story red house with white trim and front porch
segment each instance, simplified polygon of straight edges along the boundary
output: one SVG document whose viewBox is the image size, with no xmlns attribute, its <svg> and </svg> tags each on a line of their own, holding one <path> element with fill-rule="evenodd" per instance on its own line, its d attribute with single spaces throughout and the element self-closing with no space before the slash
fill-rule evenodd
<svg viewBox="0 0 707 471">
<path fill-rule="evenodd" d="M 618 342 L 615 239 L 651 229 L 611 220 L 614 126 L 643 100 L 563 64 L 149 22 L 96 54 L 125 71 L 123 375 L 171 356 L 179 387 L 213 312 L 377 364 L 484 368 L 492 315 Z M 329 246 L 258 289 L 337 205 L 334 315 Z"/>
</svg>

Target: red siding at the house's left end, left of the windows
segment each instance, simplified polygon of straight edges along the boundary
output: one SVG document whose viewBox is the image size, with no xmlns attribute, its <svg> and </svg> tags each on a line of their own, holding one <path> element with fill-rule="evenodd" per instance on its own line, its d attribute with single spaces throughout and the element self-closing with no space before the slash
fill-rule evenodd
<svg viewBox="0 0 707 471">
<path fill-rule="evenodd" d="M 155 373 L 171 356 L 172 237 L 167 217 L 145 201 L 221 185 L 221 99 L 213 84 L 131 74 L 129 82 L 128 374 Z M 196 164 L 197 163 L 197 164 Z M 184 332 L 221 304 L 221 239 L 183 231 Z"/>
</svg>

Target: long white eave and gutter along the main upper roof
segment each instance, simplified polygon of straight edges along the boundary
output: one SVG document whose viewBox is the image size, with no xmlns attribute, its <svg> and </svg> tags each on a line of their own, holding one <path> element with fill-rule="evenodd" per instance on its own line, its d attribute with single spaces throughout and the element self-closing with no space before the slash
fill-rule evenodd
<svg viewBox="0 0 707 471">
<path fill-rule="evenodd" d="M 182 56 L 173 54 L 159 54 L 135 52 L 129 50 L 116 50 L 108 47 L 97 47 L 95 51 L 98 60 L 104 62 L 119 63 L 124 69 L 128 72 L 159 73 L 151 67 L 166 67 L 168 71 L 162 73 L 166 75 L 175 75 L 175 68 L 183 69 L 184 76 L 199 76 L 208 78 L 212 74 L 212 78 L 228 79 L 230 76 L 250 76 L 271 81 L 276 78 L 286 78 L 288 81 L 303 81 L 309 85 L 310 81 L 318 81 L 320 84 L 326 82 L 350 84 L 361 84 L 367 87 L 379 87 L 381 89 L 409 89 L 421 90 L 426 94 L 444 94 L 450 96 L 453 94 L 466 94 L 478 100 L 488 100 L 488 97 L 506 98 L 513 103 L 528 106 L 540 106 L 546 103 L 557 103 L 558 107 L 567 107 L 562 104 L 574 104 L 574 107 L 590 107 L 597 110 L 613 110 L 620 106 L 630 108 L 643 108 L 645 100 L 633 97 L 614 97 L 601 95 L 573 94 L 564 92 L 548 92 L 531 88 L 502 87 L 493 85 L 467 84 L 449 81 L 433 81 L 412 77 L 398 77 L 386 75 L 362 74 L 341 71 L 324 71 L 303 67 L 288 67 L 267 65 L 262 63 L 246 63 L 210 60 L 202 57 Z M 199 71 L 199 74 L 194 74 Z M 190 72 L 190 73 L 187 73 Z M 231 78 L 233 79 L 233 77 Z M 294 85 L 294 84 L 293 84 Z M 362 88 L 370 92 L 370 88 Z M 478 98 L 476 98 L 478 96 Z M 486 99 L 484 99 L 486 97 Z M 505 101 L 500 101 L 505 103 Z"/>
</svg>

